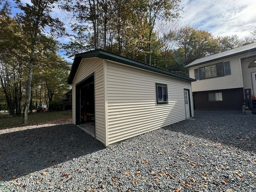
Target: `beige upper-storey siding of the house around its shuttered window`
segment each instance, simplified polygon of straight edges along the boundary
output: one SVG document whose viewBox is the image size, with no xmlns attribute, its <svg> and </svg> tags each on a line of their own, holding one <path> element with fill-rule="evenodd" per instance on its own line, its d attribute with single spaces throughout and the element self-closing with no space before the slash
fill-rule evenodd
<svg viewBox="0 0 256 192">
<path fill-rule="evenodd" d="M 229 58 L 228 60 L 220 60 L 217 62 L 211 62 L 208 64 L 191 67 L 189 68 L 189 76 L 190 78 L 195 78 L 194 69 L 196 68 L 209 66 L 212 64 L 216 64 L 219 62 L 226 62 L 226 61 L 230 61 L 231 75 L 196 80 L 195 82 L 191 82 L 192 91 L 198 92 L 198 91 L 205 91 L 205 90 L 221 90 L 221 89 L 232 89 L 232 88 L 243 87 L 240 57 Z"/>
</svg>

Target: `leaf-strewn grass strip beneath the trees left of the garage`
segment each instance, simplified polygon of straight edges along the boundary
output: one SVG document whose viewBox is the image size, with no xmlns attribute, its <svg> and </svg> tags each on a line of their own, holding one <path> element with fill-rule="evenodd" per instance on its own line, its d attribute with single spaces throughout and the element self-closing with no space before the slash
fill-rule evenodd
<svg viewBox="0 0 256 192">
<path fill-rule="evenodd" d="M 28 115 L 28 125 L 40 124 L 70 124 L 72 122 L 72 111 L 59 112 L 33 112 Z M 0 129 L 20 127 L 22 125 L 22 116 L 8 117 L 8 114 L 0 113 Z"/>
</svg>

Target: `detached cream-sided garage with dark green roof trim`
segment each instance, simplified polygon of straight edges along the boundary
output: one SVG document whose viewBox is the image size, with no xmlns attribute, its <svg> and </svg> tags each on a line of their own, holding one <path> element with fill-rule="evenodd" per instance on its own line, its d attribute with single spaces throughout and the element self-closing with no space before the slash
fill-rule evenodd
<svg viewBox="0 0 256 192">
<path fill-rule="evenodd" d="M 73 123 L 105 146 L 194 116 L 192 78 L 104 50 L 76 54 Z"/>
</svg>

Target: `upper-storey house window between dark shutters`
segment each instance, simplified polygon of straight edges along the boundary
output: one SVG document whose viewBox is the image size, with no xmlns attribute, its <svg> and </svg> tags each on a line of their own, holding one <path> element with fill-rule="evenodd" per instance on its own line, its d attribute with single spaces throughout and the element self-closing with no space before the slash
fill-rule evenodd
<svg viewBox="0 0 256 192">
<path fill-rule="evenodd" d="M 200 79 L 224 76 L 223 62 L 199 68 Z"/>
</svg>

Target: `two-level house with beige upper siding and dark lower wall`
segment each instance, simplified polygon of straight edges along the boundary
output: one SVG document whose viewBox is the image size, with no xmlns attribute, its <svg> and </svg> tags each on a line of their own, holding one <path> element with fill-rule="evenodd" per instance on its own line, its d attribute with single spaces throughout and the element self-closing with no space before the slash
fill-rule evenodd
<svg viewBox="0 0 256 192">
<path fill-rule="evenodd" d="M 187 66 L 195 110 L 256 112 L 256 43 L 197 59 Z"/>
</svg>

